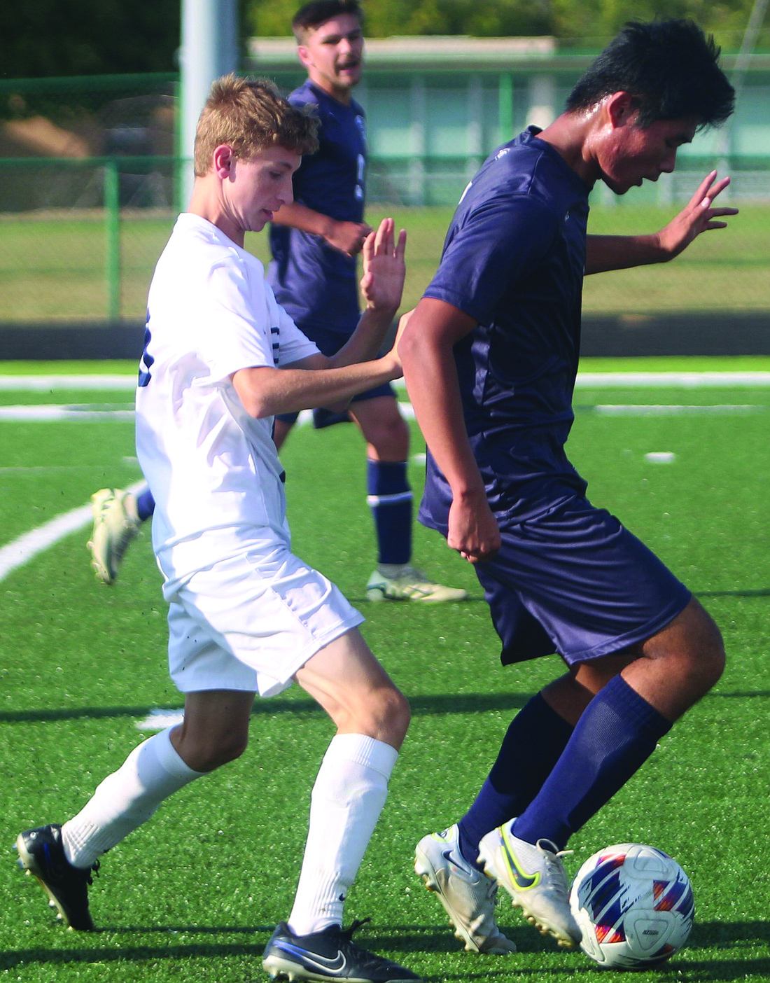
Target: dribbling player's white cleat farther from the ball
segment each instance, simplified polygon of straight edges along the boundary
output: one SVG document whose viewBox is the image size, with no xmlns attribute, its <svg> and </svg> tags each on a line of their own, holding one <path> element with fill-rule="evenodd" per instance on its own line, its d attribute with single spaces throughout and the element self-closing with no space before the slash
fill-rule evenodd
<svg viewBox="0 0 770 983">
<path fill-rule="evenodd" d="M 467 862 L 459 850 L 457 826 L 423 837 L 415 849 L 414 869 L 429 891 L 439 896 L 455 938 L 469 953 L 515 953 L 495 921 L 498 885 Z"/>
</svg>

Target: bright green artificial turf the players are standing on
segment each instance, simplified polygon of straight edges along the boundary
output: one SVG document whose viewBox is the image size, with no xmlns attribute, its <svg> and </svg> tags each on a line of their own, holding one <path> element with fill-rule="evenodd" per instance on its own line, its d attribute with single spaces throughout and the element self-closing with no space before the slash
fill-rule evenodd
<svg viewBox="0 0 770 983">
<path fill-rule="evenodd" d="M 626 365 L 714 368 L 707 360 Z M 30 371 L 0 366 L 0 383 L 9 368 Z M 76 368 L 126 370 L 38 367 Z M 730 368 L 768 371 L 770 359 L 737 360 Z M 126 371 L 133 374 L 133 367 Z M 0 389 L 4 407 L 56 403 L 107 411 L 130 399 L 128 389 Z M 567 868 L 574 873 L 609 843 L 638 840 L 672 853 L 692 880 L 696 923 L 687 949 L 655 972 L 613 978 L 770 980 L 770 387 L 684 388 L 672 376 L 664 388 L 581 385 L 575 405 L 571 458 L 589 479 L 592 499 L 619 514 L 708 607 L 724 632 L 729 664 L 715 690 L 572 839 Z M 0 419 L 0 548 L 83 505 L 95 489 L 140 477 L 131 422 L 77 416 Z M 414 436 L 417 454 L 423 445 Z M 645 458 L 655 451 L 673 452 L 675 460 Z M 599 979 L 583 954 L 557 950 L 505 899 L 499 921 L 519 953 L 463 953 L 443 908 L 412 870 L 414 843 L 462 814 L 508 721 L 559 673 L 559 660 L 503 669 L 473 570 L 421 528 L 417 560 L 444 582 L 466 586 L 471 600 L 451 607 L 367 604 L 374 543 L 359 439 L 351 427 L 320 434 L 301 428 L 283 457 L 297 552 L 360 605 L 365 635 L 413 711 L 385 812 L 346 906 L 348 918 L 372 917 L 360 941 L 436 983 Z M 418 491 L 421 473 L 415 460 L 410 474 Z M 72 815 L 143 739 L 137 724 L 153 709 L 181 704 L 166 674 L 165 611 L 148 535 L 131 549 L 112 589 L 92 578 L 87 538 L 84 527 L 0 582 L 0 978 L 267 979 L 261 954 L 291 905 L 308 794 L 331 736 L 326 718 L 299 690 L 258 702 L 245 755 L 183 789 L 107 854 L 90 892 L 96 933 L 62 930 L 39 887 L 16 867 L 20 830 Z"/>
</svg>

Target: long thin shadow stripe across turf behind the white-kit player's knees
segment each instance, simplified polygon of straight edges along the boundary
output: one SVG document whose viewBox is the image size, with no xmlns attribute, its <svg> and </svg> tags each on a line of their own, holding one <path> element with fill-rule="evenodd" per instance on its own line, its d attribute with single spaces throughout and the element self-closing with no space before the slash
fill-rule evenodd
<svg viewBox="0 0 770 983">
<path fill-rule="evenodd" d="M 412 716 L 421 714 L 468 714 L 486 711 L 520 710 L 532 693 L 458 693 L 446 696 L 410 696 Z M 170 708 L 171 709 L 171 708 Z M 181 708 L 173 708 L 180 709 Z M 49 723 L 51 721 L 98 720 L 111 717 L 145 718 L 157 707 L 72 707 L 61 710 L 17 710 L 0 713 L 0 723 Z M 323 714 L 313 700 L 258 700 L 252 717 L 264 714 Z"/>
</svg>

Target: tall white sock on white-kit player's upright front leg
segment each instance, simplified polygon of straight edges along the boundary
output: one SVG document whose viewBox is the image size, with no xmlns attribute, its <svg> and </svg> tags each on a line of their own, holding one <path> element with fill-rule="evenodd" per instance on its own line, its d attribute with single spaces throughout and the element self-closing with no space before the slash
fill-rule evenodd
<svg viewBox="0 0 770 983">
<path fill-rule="evenodd" d="M 385 805 L 398 752 L 364 734 L 336 734 L 310 804 L 310 829 L 289 916 L 295 935 L 342 924 L 342 904 Z"/>
</svg>

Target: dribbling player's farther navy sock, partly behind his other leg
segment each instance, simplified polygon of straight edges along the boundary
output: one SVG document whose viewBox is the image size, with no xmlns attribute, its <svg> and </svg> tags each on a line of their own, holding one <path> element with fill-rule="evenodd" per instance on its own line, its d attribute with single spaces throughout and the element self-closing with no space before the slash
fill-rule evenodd
<svg viewBox="0 0 770 983">
<path fill-rule="evenodd" d="M 478 866 L 479 840 L 513 816 L 520 816 L 537 795 L 571 733 L 571 723 L 560 717 L 540 693 L 516 714 L 487 781 L 457 824 L 460 853 L 469 863 Z"/>
</svg>

